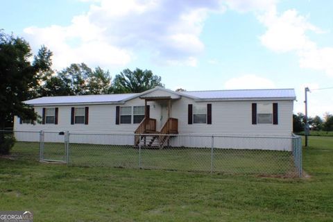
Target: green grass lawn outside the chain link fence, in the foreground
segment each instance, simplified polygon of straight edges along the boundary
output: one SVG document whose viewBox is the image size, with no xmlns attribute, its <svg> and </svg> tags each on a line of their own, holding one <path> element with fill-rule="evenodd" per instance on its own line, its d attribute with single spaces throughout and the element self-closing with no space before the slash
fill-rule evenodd
<svg viewBox="0 0 333 222">
<path fill-rule="evenodd" d="M 310 137 L 303 157 L 302 179 L 0 158 L 0 210 L 35 221 L 333 221 L 333 137 Z"/>
</svg>

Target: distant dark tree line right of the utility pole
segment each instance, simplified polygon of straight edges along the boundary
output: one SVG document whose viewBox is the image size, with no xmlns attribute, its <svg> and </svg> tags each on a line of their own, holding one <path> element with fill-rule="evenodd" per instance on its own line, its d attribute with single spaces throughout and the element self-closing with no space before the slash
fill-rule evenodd
<svg viewBox="0 0 333 222">
<path fill-rule="evenodd" d="M 323 130 L 332 131 L 333 130 L 333 115 L 326 112 L 323 119 L 319 116 L 308 117 L 308 123 L 310 130 Z M 305 114 L 298 112 L 298 114 L 293 114 L 293 132 L 300 133 L 305 129 Z"/>
</svg>

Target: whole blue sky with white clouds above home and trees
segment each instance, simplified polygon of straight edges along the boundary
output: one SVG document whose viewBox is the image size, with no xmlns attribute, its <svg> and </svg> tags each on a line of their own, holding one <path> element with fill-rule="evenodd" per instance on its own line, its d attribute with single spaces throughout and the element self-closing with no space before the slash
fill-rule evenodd
<svg viewBox="0 0 333 222">
<path fill-rule="evenodd" d="M 0 28 L 45 44 L 53 67 L 73 62 L 151 69 L 169 89 L 333 87 L 333 1 L 2 1 Z M 309 114 L 333 113 L 333 89 L 309 94 Z"/>
</svg>

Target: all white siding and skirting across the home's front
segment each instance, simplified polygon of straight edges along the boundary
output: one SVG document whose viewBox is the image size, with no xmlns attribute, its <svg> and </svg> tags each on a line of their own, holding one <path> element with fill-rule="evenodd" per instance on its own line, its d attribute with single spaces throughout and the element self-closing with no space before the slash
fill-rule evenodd
<svg viewBox="0 0 333 222">
<path fill-rule="evenodd" d="M 162 96 L 162 95 L 161 95 Z M 164 94 L 165 96 L 165 94 Z M 292 132 L 293 101 L 271 101 L 278 103 L 278 125 L 273 124 L 252 124 L 252 103 L 260 101 L 214 101 L 196 102 L 182 97 L 172 102 L 171 117 L 178 119 L 178 132 L 184 135 L 266 135 L 278 137 L 290 137 Z M 207 105 L 212 103 L 212 124 L 193 123 L 188 124 L 188 104 Z M 126 104 L 119 106 L 144 105 L 142 99 L 132 99 Z M 148 102 L 151 108 L 151 118 L 157 121 L 157 130 L 167 119 L 167 106 L 158 102 Z M 71 107 L 89 106 L 89 124 L 71 125 Z M 35 125 L 22 123 L 15 117 L 14 130 L 56 132 L 46 135 L 46 142 L 62 142 L 63 136 L 58 132 L 69 130 L 71 133 L 116 133 L 127 135 L 71 135 L 70 141 L 74 143 L 88 144 L 119 144 L 133 145 L 133 134 L 139 126 L 136 124 L 115 124 L 117 105 L 77 105 L 77 106 L 51 106 L 58 107 L 58 125 L 40 124 Z M 42 116 L 43 107 L 35 107 L 37 114 Z M 162 117 L 162 118 L 161 118 Z M 133 118 L 132 118 L 133 122 Z M 31 135 L 31 134 L 29 134 Z M 38 133 L 29 137 L 25 133 L 16 133 L 19 141 L 38 141 Z M 175 137 L 171 139 L 171 146 L 187 147 L 210 147 L 211 137 Z M 234 137 L 215 137 L 214 146 L 216 148 L 257 148 L 272 150 L 291 150 L 291 139 L 251 139 Z"/>
</svg>

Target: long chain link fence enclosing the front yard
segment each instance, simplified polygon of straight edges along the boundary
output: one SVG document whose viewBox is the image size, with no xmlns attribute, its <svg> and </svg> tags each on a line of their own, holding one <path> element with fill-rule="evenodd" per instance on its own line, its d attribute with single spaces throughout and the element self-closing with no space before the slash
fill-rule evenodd
<svg viewBox="0 0 333 222">
<path fill-rule="evenodd" d="M 14 159 L 171 171 L 302 176 L 301 137 L 12 132 Z"/>
</svg>

